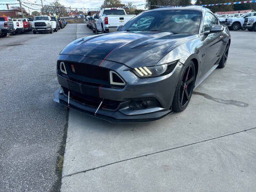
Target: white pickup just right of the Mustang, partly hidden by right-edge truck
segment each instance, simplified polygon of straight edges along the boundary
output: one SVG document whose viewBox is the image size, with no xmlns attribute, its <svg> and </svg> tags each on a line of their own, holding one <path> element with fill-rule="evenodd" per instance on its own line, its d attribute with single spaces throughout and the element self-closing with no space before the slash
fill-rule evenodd
<svg viewBox="0 0 256 192">
<path fill-rule="evenodd" d="M 256 12 L 248 12 L 242 15 L 242 17 L 226 18 L 225 24 L 231 30 L 245 29 L 244 19 L 247 17 L 255 16 Z"/>
</svg>

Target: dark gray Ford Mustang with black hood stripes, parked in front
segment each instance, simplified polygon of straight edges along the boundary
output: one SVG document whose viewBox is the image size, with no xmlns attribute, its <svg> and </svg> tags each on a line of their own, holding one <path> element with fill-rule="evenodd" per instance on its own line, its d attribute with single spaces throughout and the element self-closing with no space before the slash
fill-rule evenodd
<svg viewBox="0 0 256 192">
<path fill-rule="evenodd" d="M 54 101 L 110 122 L 153 121 L 185 110 L 226 65 L 229 30 L 201 6 L 146 11 L 117 30 L 61 51 Z"/>
</svg>

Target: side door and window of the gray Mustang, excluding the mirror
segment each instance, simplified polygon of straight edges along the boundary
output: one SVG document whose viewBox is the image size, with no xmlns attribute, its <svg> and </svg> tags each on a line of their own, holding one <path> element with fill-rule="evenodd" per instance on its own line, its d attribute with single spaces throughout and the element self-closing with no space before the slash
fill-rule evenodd
<svg viewBox="0 0 256 192">
<path fill-rule="evenodd" d="M 221 55 L 220 50 L 222 45 L 222 32 L 219 33 L 210 33 L 212 25 L 219 25 L 219 21 L 215 16 L 210 13 L 206 12 L 204 16 L 203 22 L 203 44 L 205 47 L 204 52 L 204 59 L 203 59 L 203 66 L 202 66 L 202 73 L 205 74 L 209 71 L 216 62 L 219 61 Z"/>
</svg>

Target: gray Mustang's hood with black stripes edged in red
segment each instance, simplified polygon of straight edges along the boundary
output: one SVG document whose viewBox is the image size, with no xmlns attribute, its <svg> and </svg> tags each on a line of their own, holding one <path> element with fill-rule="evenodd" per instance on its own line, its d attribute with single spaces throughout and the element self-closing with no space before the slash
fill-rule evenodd
<svg viewBox="0 0 256 192">
<path fill-rule="evenodd" d="M 174 47 L 195 38 L 188 34 L 155 31 L 118 31 L 77 39 L 60 54 L 74 54 L 85 57 L 123 63 L 128 67 L 147 66 L 156 63 Z"/>
</svg>

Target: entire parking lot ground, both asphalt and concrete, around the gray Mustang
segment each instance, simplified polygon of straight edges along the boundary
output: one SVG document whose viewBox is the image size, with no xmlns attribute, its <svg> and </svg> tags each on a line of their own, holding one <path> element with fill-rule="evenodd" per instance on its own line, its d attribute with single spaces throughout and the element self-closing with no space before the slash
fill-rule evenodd
<svg viewBox="0 0 256 192">
<path fill-rule="evenodd" d="M 53 102 L 58 54 L 93 35 L 85 25 L 0 39 L 0 191 L 58 191 L 65 127 L 62 192 L 254 191 L 255 34 L 231 31 L 227 66 L 194 90 L 185 111 L 138 124 Z"/>
</svg>

